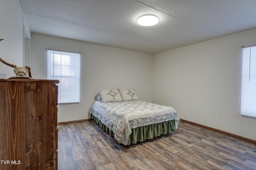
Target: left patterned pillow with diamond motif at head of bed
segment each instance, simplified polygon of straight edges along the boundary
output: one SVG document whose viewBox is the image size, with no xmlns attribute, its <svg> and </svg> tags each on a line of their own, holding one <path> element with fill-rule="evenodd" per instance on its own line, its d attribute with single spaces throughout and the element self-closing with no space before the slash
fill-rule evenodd
<svg viewBox="0 0 256 170">
<path fill-rule="evenodd" d="M 123 101 L 118 90 L 101 90 L 100 95 L 103 103 Z"/>
</svg>

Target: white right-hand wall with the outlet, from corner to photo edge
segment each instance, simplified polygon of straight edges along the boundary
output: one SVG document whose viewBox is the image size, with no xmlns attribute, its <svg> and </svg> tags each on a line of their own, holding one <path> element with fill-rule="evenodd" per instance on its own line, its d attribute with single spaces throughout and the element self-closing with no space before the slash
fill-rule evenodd
<svg viewBox="0 0 256 170">
<path fill-rule="evenodd" d="M 240 115 L 242 45 L 256 45 L 256 30 L 155 54 L 153 102 L 174 107 L 180 119 L 256 140 L 256 119 Z"/>
</svg>

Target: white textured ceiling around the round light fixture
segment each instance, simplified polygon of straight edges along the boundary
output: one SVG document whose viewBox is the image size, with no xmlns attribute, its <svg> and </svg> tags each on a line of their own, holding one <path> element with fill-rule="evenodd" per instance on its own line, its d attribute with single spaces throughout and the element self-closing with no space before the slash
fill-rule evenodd
<svg viewBox="0 0 256 170">
<path fill-rule="evenodd" d="M 256 28 L 256 0 L 19 0 L 33 33 L 158 53 Z M 144 14 L 159 23 L 139 26 Z"/>
</svg>

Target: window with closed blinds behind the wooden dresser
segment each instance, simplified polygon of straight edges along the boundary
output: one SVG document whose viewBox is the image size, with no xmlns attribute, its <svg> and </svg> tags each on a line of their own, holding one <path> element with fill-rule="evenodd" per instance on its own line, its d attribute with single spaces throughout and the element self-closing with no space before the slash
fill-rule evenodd
<svg viewBox="0 0 256 170">
<path fill-rule="evenodd" d="M 58 79 L 58 103 L 80 102 L 80 54 L 47 50 L 47 79 Z"/>
</svg>

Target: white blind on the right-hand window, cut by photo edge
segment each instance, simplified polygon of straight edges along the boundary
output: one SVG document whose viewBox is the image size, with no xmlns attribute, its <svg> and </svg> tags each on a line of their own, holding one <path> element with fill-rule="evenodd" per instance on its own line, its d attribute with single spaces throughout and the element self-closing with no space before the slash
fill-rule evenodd
<svg viewBox="0 0 256 170">
<path fill-rule="evenodd" d="M 243 48 L 241 115 L 256 117 L 256 46 Z"/>
</svg>

